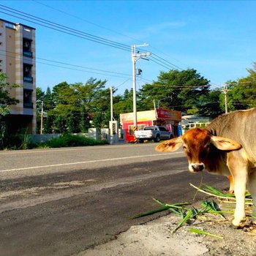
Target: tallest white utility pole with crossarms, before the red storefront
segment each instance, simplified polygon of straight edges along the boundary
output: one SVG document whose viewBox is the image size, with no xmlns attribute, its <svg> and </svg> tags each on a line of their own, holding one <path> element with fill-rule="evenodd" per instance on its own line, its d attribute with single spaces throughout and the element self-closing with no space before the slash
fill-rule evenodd
<svg viewBox="0 0 256 256">
<path fill-rule="evenodd" d="M 139 59 L 146 59 L 147 56 L 150 56 L 151 53 L 140 53 L 136 51 L 136 47 L 143 47 L 148 46 L 147 44 L 144 45 L 132 45 L 132 96 L 133 96 L 133 126 L 134 129 L 137 129 L 137 99 L 136 99 L 136 62 Z M 141 72 L 141 70 L 140 70 Z"/>
</svg>

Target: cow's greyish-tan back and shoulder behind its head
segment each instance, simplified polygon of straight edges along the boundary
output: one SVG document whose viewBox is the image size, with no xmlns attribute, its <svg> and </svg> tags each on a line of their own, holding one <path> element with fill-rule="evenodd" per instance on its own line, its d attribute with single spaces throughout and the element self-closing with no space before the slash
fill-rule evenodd
<svg viewBox="0 0 256 256">
<path fill-rule="evenodd" d="M 206 129 L 212 135 L 236 140 L 256 165 L 256 108 L 219 116 Z"/>
</svg>

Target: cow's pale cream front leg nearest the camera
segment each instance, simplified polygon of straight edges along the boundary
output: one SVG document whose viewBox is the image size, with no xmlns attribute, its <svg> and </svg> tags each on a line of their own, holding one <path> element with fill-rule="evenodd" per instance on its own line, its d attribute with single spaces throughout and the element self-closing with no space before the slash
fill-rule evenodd
<svg viewBox="0 0 256 256">
<path fill-rule="evenodd" d="M 240 170 L 241 173 L 236 173 L 234 175 L 234 190 L 236 195 L 236 210 L 233 219 L 233 225 L 238 227 L 244 221 L 245 218 L 245 192 L 247 183 L 247 173 L 246 171 Z"/>
</svg>

